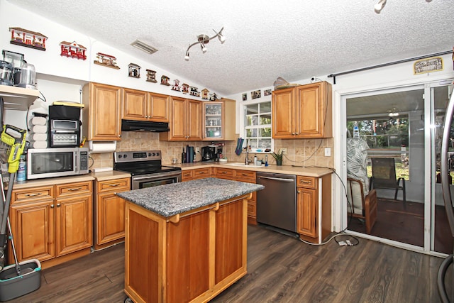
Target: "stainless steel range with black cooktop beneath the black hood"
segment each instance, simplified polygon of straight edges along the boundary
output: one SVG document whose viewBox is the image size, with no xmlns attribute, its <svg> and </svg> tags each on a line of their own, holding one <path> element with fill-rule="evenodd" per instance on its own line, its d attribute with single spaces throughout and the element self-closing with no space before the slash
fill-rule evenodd
<svg viewBox="0 0 454 303">
<path fill-rule="evenodd" d="M 160 150 L 114 153 L 114 170 L 131 173 L 131 189 L 181 182 L 180 167 L 161 165 Z"/>
</svg>

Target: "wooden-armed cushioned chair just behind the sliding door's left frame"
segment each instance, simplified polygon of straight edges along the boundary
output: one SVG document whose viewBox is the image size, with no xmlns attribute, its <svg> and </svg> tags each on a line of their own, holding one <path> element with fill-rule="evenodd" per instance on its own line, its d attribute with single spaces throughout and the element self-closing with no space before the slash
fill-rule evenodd
<svg viewBox="0 0 454 303">
<path fill-rule="evenodd" d="M 365 221 L 366 233 L 370 234 L 377 220 L 377 192 L 372 189 L 364 194 L 360 180 L 347 178 L 347 197 L 351 203 L 348 206 L 348 215 Z"/>
</svg>

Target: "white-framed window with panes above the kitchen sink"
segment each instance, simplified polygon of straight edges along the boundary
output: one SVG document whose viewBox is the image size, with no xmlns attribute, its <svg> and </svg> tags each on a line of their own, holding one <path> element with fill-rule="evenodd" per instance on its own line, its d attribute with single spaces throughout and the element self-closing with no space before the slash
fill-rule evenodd
<svg viewBox="0 0 454 303">
<path fill-rule="evenodd" d="M 248 104 L 245 109 L 245 138 L 253 152 L 272 150 L 271 138 L 271 101 Z"/>
</svg>

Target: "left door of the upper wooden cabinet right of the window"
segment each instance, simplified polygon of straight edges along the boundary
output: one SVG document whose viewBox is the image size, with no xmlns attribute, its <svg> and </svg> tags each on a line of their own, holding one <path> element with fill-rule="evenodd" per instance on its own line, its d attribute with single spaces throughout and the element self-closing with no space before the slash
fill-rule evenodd
<svg viewBox="0 0 454 303">
<path fill-rule="evenodd" d="M 272 92 L 272 138 L 294 138 L 294 89 Z"/>
</svg>

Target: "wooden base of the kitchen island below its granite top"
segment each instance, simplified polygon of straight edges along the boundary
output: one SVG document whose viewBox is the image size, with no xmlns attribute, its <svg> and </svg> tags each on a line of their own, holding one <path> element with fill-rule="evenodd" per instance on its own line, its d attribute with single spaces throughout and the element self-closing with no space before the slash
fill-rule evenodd
<svg viewBox="0 0 454 303">
<path fill-rule="evenodd" d="M 165 218 L 126 202 L 125 292 L 133 302 L 209 302 L 246 274 L 243 195 Z"/>
</svg>

